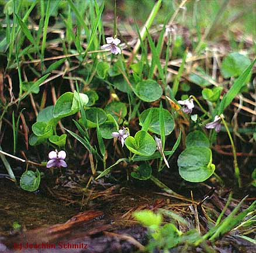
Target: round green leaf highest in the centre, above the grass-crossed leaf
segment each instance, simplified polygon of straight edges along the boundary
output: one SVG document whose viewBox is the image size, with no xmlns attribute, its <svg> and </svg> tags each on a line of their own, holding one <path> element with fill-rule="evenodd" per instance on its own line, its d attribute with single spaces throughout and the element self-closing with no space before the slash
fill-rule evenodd
<svg viewBox="0 0 256 253">
<path fill-rule="evenodd" d="M 132 86 L 133 92 L 145 102 L 153 102 L 162 96 L 162 88 L 154 80 L 144 80 Z"/>
</svg>

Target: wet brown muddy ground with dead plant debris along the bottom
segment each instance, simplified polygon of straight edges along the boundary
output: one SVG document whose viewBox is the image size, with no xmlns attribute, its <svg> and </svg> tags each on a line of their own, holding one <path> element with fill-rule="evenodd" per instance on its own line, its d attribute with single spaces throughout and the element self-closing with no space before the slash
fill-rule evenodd
<svg viewBox="0 0 256 253">
<path fill-rule="evenodd" d="M 132 213 L 141 209 L 172 210 L 186 217 L 191 228 L 194 227 L 193 214 L 189 209 L 191 203 L 161 192 L 159 188 L 96 184 L 83 192 L 74 185 L 56 189 L 42 184 L 39 192 L 29 193 L 8 179 L 1 179 L 0 252 L 139 252 L 147 244 L 148 235 L 147 230 L 133 220 Z M 221 212 L 228 192 L 216 192 L 206 201 L 205 210 L 213 220 Z M 200 192 L 197 196 L 199 200 L 203 198 Z M 229 212 L 228 209 L 227 214 Z M 203 224 L 204 217 L 200 218 Z M 13 227 L 15 223 L 16 228 Z M 17 228 L 17 224 L 20 227 Z M 208 229 L 206 225 L 205 229 Z M 205 233 L 203 226 L 202 232 Z M 44 248 L 29 248 L 29 244 Z M 79 248 L 70 248 L 72 245 Z M 227 235 L 210 247 L 213 250 L 210 252 L 216 253 L 256 252 L 255 245 L 236 237 L 236 234 Z M 207 251 L 178 247 L 169 252 Z"/>
</svg>

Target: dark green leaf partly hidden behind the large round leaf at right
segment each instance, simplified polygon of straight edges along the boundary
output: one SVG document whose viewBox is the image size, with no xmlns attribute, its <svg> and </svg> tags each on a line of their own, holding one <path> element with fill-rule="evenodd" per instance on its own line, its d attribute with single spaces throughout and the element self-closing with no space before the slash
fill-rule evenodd
<svg viewBox="0 0 256 253">
<path fill-rule="evenodd" d="M 210 147 L 210 141 L 202 131 L 193 131 L 186 136 L 186 148 Z"/>
</svg>

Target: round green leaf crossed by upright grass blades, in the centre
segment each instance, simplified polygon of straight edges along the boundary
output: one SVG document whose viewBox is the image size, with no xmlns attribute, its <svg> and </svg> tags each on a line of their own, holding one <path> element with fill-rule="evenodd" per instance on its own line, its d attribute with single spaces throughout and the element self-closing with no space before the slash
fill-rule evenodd
<svg viewBox="0 0 256 253">
<path fill-rule="evenodd" d="M 148 108 L 147 110 L 144 110 L 143 113 L 140 115 L 140 126 L 143 126 L 146 117 L 148 113 L 152 110 L 152 116 L 151 116 L 151 122 L 150 127 L 148 128 L 149 131 L 155 134 L 161 134 L 160 131 L 160 122 L 159 122 L 159 108 Z M 166 109 L 162 109 L 163 115 L 164 115 L 164 131 L 165 136 L 168 134 L 171 134 L 171 132 L 174 130 L 174 119 L 171 116 L 171 113 L 168 112 Z"/>
</svg>

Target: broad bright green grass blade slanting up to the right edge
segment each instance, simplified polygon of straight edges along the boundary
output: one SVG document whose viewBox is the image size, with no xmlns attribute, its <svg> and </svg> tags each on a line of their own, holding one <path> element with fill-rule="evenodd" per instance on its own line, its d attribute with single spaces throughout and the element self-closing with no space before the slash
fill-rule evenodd
<svg viewBox="0 0 256 253">
<path fill-rule="evenodd" d="M 255 63 L 256 59 L 252 61 L 252 63 L 244 70 L 244 72 L 236 79 L 234 84 L 231 86 L 230 90 L 223 96 L 222 102 L 220 103 L 220 108 L 223 108 L 219 114 L 223 113 L 223 110 L 230 105 L 234 97 L 240 92 L 240 89 L 244 86 L 245 81 L 250 75 L 252 67 Z"/>
</svg>

